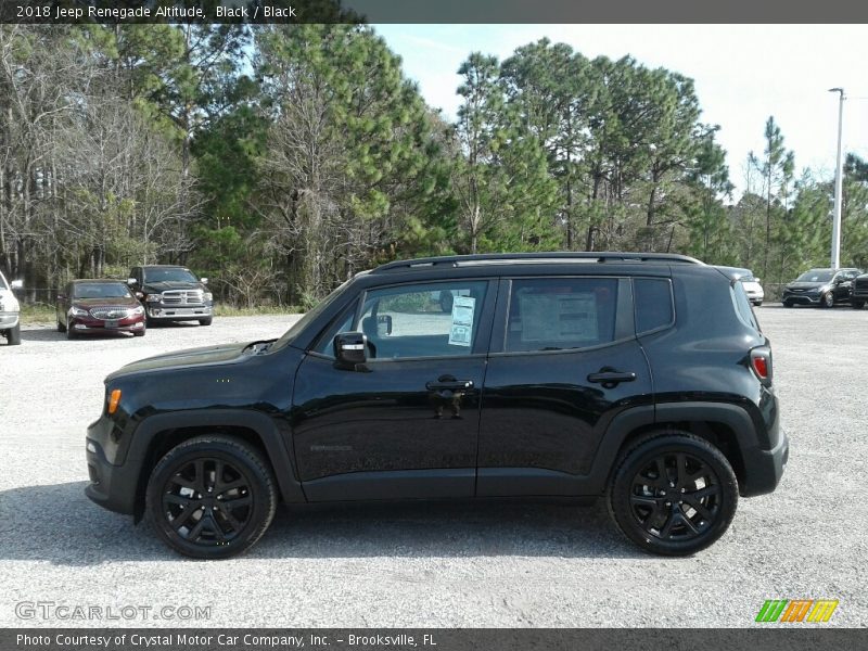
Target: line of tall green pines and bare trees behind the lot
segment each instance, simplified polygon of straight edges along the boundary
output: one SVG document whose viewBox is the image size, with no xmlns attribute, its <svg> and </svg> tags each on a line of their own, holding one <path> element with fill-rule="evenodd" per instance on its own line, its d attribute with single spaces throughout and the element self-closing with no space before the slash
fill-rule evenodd
<svg viewBox="0 0 868 651">
<path fill-rule="evenodd" d="M 684 75 L 547 39 L 458 74 L 450 120 L 369 26 L 0 26 L 0 268 L 56 288 L 184 264 L 221 301 L 307 308 L 417 255 L 828 265 L 832 181 L 774 117 L 737 197 Z M 868 265 L 867 206 L 848 155 L 842 264 Z"/>
</svg>

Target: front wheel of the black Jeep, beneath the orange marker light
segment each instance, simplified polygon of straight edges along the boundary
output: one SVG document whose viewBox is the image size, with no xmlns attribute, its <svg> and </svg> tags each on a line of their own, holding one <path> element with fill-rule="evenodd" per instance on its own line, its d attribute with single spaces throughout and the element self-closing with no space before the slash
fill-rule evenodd
<svg viewBox="0 0 868 651">
<path fill-rule="evenodd" d="M 275 480 L 258 450 L 229 436 L 196 436 L 154 467 L 145 513 L 157 536 L 176 551 L 226 559 L 261 538 L 277 502 Z M 195 524 L 187 526 L 188 521 Z"/>
</svg>

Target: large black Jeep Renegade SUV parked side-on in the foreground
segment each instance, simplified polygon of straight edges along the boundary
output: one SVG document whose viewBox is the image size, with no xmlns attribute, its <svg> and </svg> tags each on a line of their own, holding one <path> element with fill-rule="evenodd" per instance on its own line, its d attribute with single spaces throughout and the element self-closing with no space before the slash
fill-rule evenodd
<svg viewBox="0 0 868 651">
<path fill-rule="evenodd" d="M 781 477 L 771 374 L 742 284 L 692 258 L 391 263 L 278 340 L 108 375 L 87 494 L 197 558 L 250 548 L 281 500 L 516 496 L 605 496 L 687 554 Z"/>
</svg>

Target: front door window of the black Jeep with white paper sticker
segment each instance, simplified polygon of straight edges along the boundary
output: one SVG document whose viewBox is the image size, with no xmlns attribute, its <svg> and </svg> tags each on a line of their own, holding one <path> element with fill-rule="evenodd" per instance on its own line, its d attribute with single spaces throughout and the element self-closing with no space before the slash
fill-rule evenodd
<svg viewBox="0 0 868 651">
<path fill-rule="evenodd" d="M 400 285 L 367 293 L 354 330 L 371 359 L 470 355 L 488 281 Z"/>
</svg>

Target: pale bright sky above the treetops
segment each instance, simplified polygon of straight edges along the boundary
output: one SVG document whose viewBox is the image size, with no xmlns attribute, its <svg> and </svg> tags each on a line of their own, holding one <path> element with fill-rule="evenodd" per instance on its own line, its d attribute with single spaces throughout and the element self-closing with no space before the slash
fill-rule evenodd
<svg viewBox="0 0 868 651">
<path fill-rule="evenodd" d="M 626 54 L 691 77 L 701 119 L 720 126 L 730 180 L 746 188 L 749 152 L 762 154 L 775 116 L 796 173 L 833 178 L 838 93 L 844 88 L 844 151 L 868 158 L 868 25 L 374 25 L 404 60 L 425 101 L 454 118 L 456 72 L 472 51 L 503 60 L 548 37 L 593 59 Z"/>
</svg>

